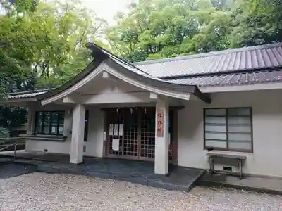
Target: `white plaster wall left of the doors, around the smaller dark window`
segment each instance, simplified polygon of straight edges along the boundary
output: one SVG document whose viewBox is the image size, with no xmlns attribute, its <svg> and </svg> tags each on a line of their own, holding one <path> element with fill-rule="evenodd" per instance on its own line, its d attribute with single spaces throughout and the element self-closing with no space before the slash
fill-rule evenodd
<svg viewBox="0 0 282 211">
<path fill-rule="evenodd" d="M 39 141 L 27 140 L 26 151 L 43 152 L 45 149 L 49 153 L 71 153 L 71 134 L 73 117 L 70 113 L 71 107 L 63 105 L 51 105 L 40 107 L 34 105 L 33 112 L 36 110 L 65 110 L 64 119 L 64 135 L 67 136 L 66 141 Z M 88 124 L 88 141 L 85 141 L 86 151 L 84 155 L 92 157 L 102 157 L 103 154 L 103 131 L 104 131 L 104 113 L 100 108 L 87 107 L 89 109 L 89 124 Z M 35 117 L 35 115 L 33 115 Z M 33 129 L 33 128 L 32 128 Z"/>
</svg>

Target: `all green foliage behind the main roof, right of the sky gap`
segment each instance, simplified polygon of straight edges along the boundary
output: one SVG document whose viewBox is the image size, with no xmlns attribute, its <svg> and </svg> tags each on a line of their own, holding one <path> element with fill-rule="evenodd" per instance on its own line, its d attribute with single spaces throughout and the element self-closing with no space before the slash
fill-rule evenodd
<svg viewBox="0 0 282 211">
<path fill-rule="evenodd" d="M 106 31 L 112 51 L 133 62 L 282 41 L 275 0 L 140 0 Z"/>
</svg>

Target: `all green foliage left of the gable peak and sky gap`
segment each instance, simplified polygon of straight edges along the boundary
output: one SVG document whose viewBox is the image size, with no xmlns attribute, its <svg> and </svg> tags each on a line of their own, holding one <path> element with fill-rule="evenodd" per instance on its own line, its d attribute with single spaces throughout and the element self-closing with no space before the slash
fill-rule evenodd
<svg viewBox="0 0 282 211">
<path fill-rule="evenodd" d="M 85 43 L 106 21 L 79 1 L 1 1 L 0 71 L 5 91 L 55 87 L 85 68 Z"/>
</svg>

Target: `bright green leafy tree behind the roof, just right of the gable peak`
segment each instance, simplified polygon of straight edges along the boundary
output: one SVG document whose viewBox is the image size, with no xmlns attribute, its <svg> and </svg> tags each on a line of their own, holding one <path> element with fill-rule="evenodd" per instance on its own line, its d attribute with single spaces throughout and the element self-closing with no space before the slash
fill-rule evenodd
<svg viewBox="0 0 282 211">
<path fill-rule="evenodd" d="M 117 15 L 117 25 L 106 31 L 106 39 L 115 53 L 130 61 L 223 49 L 228 41 L 219 40 L 228 31 L 224 24 L 229 18 L 222 10 L 209 0 L 140 1 L 128 15 Z"/>
</svg>

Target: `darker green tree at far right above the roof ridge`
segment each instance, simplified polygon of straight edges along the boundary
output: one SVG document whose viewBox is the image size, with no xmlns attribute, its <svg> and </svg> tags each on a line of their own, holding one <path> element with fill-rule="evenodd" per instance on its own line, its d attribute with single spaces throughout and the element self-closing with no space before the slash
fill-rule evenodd
<svg viewBox="0 0 282 211">
<path fill-rule="evenodd" d="M 233 13 L 231 47 L 282 41 L 282 1 L 247 0 Z"/>
</svg>

